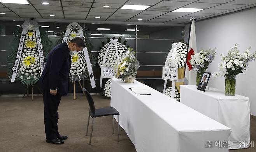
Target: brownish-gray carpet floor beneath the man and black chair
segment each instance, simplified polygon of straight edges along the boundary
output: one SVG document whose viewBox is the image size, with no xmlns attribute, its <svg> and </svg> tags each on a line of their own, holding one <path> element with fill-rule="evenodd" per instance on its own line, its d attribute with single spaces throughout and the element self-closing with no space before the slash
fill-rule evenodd
<svg viewBox="0 0 256 152">
<path fill-rule="evenodd" d="M 110 100 L 102 96 L 93 99 L 96 108 L 110 106 Z M 35 97 L 34 101 L 30 97 L 0 97 L 0 152 L 136 152 L 121 127 L 117 142 L 117 123 L 113 135 L 111 116 L 95 119 L 92 144 L 88 145 L 89 136 L 85 136 L 88 109 L 88 102 L 81 94 L 77 100 L 72 96 L 62 97 L 58 127 L 59 133 L 68 139 L 63 145 L 53 145 L 45 139 L 42 97 Z M 256 121 L 252 119 L 250 130 L 251 140 L 255 141 Z M 256 148 L 229 151 L 256 152 Z"/>
</svg>

